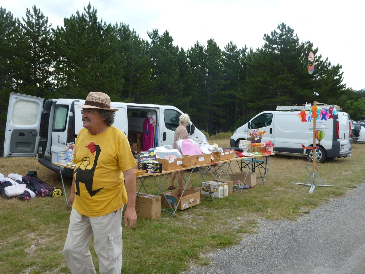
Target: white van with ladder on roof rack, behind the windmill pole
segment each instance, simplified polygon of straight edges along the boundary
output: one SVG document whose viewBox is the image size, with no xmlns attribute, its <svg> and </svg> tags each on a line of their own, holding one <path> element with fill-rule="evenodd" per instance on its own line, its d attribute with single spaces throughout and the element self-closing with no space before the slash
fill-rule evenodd
<svg viewBox="0 0 365 274">
<path fill-rule="evenodd" d="M 319 108 L 324 106 L 319 106 Z M 280 107 L 278 107 L 280 109 Z M 326 106 L 328 108 L 328 106 Z M 281 107 L 282 109 L 282 107 Z M 309 110 L 309 107 L 308 107 Z M 231 146 L 238 146 L 239 140 L 250 137 L 245 130 L 260 128 L 266 131 L 262 141 L 275 142 L 274 152 L 312 154 L 302 147 L 313 145 L 313 122 L 301 122 L 297 116 L 300 111 L 263 111 L 245 125 L 239 127 L 231 136 Z M 320 141 L 316 158 L 323 162 L 327 158 L 348 157 L 351 155 L 349 117 L 338 111 L 334 119 L 316 120 L 316 129 L 323 130 L 324 138 Z M 318 144 L 318 141 L 317 141 Z"/>
</svg>

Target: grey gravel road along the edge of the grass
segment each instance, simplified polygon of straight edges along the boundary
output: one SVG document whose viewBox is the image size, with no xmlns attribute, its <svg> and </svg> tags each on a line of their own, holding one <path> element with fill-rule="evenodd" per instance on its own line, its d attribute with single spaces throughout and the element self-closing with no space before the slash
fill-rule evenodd
<svg viewBox="0 0 365 274">
<path fill-rule="evenodd" d="M 365 273 L 365 183 L 298 221 L 264 220 L 259 226 L 258 234 L 209 254 L 210 265 L 182 274 Z"/>
</svg>

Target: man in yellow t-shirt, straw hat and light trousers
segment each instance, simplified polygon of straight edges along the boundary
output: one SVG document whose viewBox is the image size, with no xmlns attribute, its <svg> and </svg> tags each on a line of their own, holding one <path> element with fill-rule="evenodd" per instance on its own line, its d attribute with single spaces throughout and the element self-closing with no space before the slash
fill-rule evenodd
<svg viewBox="0 0 365 274">
<path fill-rule="evenodd" d="M 110 97 L 90 92 L 82 108 L 84 128 L 75 142 L 74 176 L 69 204 L 72 205 L 64 247 L 72 274 L 96 274 L 89 251 L 91 237 L 99 258 L 100 274 L 122 271 L 122 210 L 124 225 L 132 228 L 136 181 L 133 158 L 126 135 L 112 126 L 117 109 Z"/>
</svg>

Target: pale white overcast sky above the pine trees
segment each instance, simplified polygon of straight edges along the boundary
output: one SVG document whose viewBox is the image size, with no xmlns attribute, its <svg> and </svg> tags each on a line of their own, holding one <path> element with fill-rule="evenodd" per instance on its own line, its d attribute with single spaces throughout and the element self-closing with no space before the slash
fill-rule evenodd
<svg viewBox="0 0 365 274">
<path fill-rule="evenodd" d="M 15 17 L 25 17 L 34 4 L 53 27 L 63 19 L 83 11 L 88 0 L 0 0 Z M 343 82 L 354 90 L 365 88 L 365 2 L 346 1 L 270 1 L 270 0 L 91 0 L 99 20 L 129 23 L 139 37 L 147 31 L 168 30 L 174 45 L 191 48 L 196 41 L 207 44 L 213 38 L 221 50 L 232 40 L 238 48 L 260 48 L 264 34 L 280 22 L 294 29 L 300 42 L 311 41 L 331 64 L 341 64 Z"/>
</svg>

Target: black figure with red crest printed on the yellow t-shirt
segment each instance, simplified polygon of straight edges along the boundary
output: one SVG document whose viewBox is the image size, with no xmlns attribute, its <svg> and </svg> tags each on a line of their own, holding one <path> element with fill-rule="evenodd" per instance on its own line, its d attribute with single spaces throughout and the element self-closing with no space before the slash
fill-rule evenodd
<svg viewBox="0 0 365 274">
<path fill-rule="evenodd" d="M 99 159 L 99 155 L 101 152 L 100 146 L 96 145 L 94 142 L 91 142 L 89 145 L 86 146 L 92 155 L 96 153 L 94 164 L 92 167 L 90 167 L 90 157 L 84 157 L 82 158 L 81 164 L 75 169 L 74 174 L 76 174 L 75 177 L 75 187 L 76 187 L 76 195 L 80 196 L 80 183 L 85 184 L 86 190 L 90 194 L 91 197 L 93 197 L 96 193 L 98 193 L 100 190 L 103 189 L 96 189 L 93 190 L 93 179 L 94 179 L 94 173 L 95 168 L 97 165 L 97 160 Z"/>
</svg>

